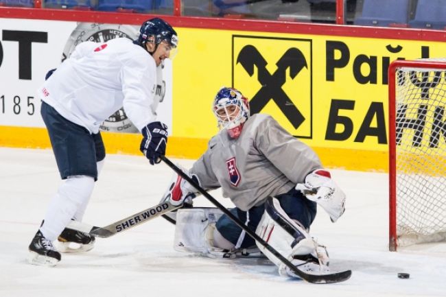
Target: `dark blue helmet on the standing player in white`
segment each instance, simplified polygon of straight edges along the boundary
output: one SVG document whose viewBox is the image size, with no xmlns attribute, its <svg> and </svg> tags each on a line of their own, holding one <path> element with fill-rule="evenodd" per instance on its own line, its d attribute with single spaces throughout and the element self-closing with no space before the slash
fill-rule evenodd
<svg viewBox="0 0 446 297">
<path fill-rule="evenodd" d="M 163 40 L 167 42 L 172 48 L 178 45 L 178 36 L 174 28 L 166 21 L 160 18 L 150 19 L 145 21 L 141 28 L 139 28 L 139 36 L 134 43 L 145 47 L 148 41 L 159 45 Z"/>
</svg>

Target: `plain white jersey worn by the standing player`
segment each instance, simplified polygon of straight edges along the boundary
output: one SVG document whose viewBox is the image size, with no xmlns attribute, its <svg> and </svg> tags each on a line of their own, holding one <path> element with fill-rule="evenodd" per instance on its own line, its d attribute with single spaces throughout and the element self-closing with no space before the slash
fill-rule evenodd
<svg viewBox="0 0 446 297">
<path fill-rule="evenodd" d="M 78 45 L 38 90 L 62 117 L 97 133 L 101 123 L 124 106 L 140 131 L 155 120 L 159 96 L 154 59 L 128 38 Z"/>
</svg>

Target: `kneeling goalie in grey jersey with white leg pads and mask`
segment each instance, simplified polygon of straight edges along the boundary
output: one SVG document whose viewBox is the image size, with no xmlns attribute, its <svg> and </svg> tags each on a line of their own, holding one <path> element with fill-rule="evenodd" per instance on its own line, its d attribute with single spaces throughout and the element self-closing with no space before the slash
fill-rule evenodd
<svg viewBox="0 0 446 297">
<path fill-rule="evenodd" d="M 193 164 L 189 177 L 204 189 L 222 188 L 235 204 L 231 213 L 305 272 L 329 272 L 328 254 L 309 227 L 322 206 L 331 221 L 344 213 L 345 195 L 322 168 L 316 153 L 286 132 L 269 115 L 249 115 L 248 99 L 222 88 L 213 102 L 220 132 Z M 180 205 L 197 190 L 175 174 L 163 200 Z M 210 257 L 246 254 L 256 243 L 218 209 L 181 209 L 176 214 L 176 250 Z M 263 254 L 293 275 L 261 244 Z"/>
</svg>

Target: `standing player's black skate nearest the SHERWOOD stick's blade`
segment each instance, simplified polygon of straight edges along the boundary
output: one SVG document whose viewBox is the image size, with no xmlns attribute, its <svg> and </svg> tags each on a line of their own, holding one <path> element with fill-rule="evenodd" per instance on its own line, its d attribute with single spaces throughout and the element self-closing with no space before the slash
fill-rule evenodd
<svg viewBox="0 0 446 297">
<path fill-rule="evenodd" d="M 88 233 L 65 228 L 58 237 L 60 252 L 88 252 L 95 246 L 95 237 Z"/>
</svg>

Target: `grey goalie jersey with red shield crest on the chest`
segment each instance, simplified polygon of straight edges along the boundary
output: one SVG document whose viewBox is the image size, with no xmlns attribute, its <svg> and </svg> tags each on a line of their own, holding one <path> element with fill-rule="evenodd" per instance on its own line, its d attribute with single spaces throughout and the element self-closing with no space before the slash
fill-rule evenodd
<svg viewBox="0 0 446 297">
<path fill-rule="evenodd" d="M 244 123 L 239 138 L 231 139 L 226 130 L 213 136 L 190 172 L 204 189 L 222 187 L 225 198 L 247 211 L 270 195 L 290 191 L 321 167 L 309 146 L 269 115 L 256 114 Z"/>
</svg>

